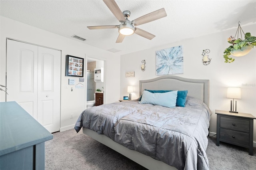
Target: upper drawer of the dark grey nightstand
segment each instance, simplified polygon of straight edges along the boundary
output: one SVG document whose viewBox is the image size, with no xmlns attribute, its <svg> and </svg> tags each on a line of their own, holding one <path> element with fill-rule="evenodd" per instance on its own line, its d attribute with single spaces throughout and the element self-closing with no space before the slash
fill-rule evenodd
<svg viewBox="0 0 256 170">
<path fill-rule="evenodd" d="M 229 117 L 220 117 L 220 127 L 242 132 L 250 132 L 250 121 L 233 119 Z"/>
</svg>

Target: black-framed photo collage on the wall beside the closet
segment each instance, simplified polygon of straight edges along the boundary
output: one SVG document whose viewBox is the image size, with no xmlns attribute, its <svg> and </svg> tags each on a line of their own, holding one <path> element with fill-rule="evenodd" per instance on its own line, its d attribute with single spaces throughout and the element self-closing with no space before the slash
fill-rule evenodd
<svg viewBox="0 0 256 170">
<path fill-rule="evenodd" d="M 84 77 L 84 59 L 66 55 L 66 76 Z"/>
</svg>

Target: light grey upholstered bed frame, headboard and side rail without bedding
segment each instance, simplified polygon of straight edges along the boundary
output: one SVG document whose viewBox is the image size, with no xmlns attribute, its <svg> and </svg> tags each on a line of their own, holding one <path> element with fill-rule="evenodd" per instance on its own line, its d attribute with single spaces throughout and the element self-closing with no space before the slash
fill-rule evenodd
<svg viewBox="0 0 256 170">
<path fill-rule="evenodd" d="M 165 75 L 149 80 L 139 81 L 139 95 L 144 89 L 150 90 L 188 90 L 188 95 L 204 101 L 209 107 L 209 80 L 202 79 L 187 79 L 183 77 Z M 130 150 L 108 138 L 104 134 L 98 134 L 93 130 L 83 128 L 83 133 L 94 138 L 98 142 L 112 148 L 116 152 L 126 156 L 127 158 L 137 162 L 149 170 L 176 170 L 175 167 L 169 166 L 164 162 L 151 158 Z"/>
</svg>

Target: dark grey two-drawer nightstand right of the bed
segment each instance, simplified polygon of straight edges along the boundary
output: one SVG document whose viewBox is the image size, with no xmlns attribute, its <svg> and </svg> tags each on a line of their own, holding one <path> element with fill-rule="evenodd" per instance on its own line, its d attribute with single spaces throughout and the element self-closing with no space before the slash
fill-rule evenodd
<svg viewBox="0 0 256 170">
<path fill-rule="evenodd" d="M 230 113 L 215 110 L 217 114 L 216 145 L 221 142 L 249 148 L 249 155 L 253 155 L 253 120 L 248 113 Z"/>
</svg>

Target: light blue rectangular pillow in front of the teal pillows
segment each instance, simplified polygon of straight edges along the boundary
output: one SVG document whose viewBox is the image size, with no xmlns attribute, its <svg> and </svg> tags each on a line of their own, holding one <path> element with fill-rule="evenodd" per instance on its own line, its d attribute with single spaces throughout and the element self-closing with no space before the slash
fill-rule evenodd
<svg viewBox="0 0 256 170">
<path fill-rule="evenodd" d="M 144 90 L 141 100 L 138 103 L 160 105 L 173 108 L 176 107 L 177 92 L 178 91 L 169 91 L 166 93 L 151 93 L 150 91 Z"/>
</svg>

